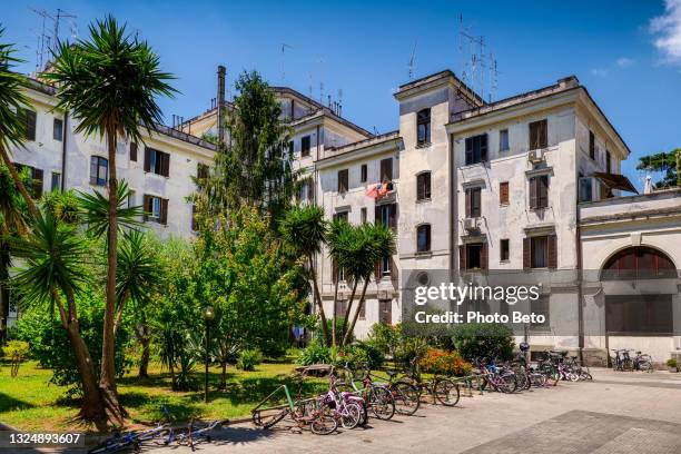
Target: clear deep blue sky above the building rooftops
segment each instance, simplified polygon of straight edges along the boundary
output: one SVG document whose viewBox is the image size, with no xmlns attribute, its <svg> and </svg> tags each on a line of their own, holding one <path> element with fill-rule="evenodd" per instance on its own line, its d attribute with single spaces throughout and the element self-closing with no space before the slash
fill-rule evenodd
<svg viewBox="0 0 681 454">
<path fill-rule="evenodd" d="M 167 122 L 209 107 L 223 63 L 230 83 L 256 69 L 272 85 L 305 95 L 312 87 L 317 99 L 320 83 L 325 100 L 342 90 L 345 117 L 378 132 L 396 129 L 392 93 L 408 81 L 415 42 L 415 77 L 463 70 L 468 52 L 460 49 L 461 16 L 497 60 L 495 99 L 576 75 L 632 149 L 624 174 L 636 186 L 639 156 L 681 147 L 681 0 L 12 0 L 0 22 L 29 60 L 24 72 L 34 69 L 41 30 L 31 8 L 77 14 L 71 21 L 80 37 L 106 13 L 127 21 L 178 78 L 181 95 L 161 101 Z M 63 20 L 61 39 L 70 29 Z M 284 59 L 282 43 L 290 46 Z"/>
</svg>

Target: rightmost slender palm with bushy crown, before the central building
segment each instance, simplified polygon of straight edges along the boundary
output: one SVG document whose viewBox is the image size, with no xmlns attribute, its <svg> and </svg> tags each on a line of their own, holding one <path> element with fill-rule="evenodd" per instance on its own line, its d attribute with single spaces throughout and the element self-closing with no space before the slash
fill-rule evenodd
<svg viewBox="0 0 681 454">
<path fill-rule="evenodd" d="M 364 278 L 364 287 L 362 288 L 362 295 L 359 296 L 357 310 L 355 310 L 353 322 L 352 324 L 349 324 L 347 330 L 345 332 L 343 345 L 347 345 L 353 337 L 355 324 L 357 323 L 359 312 L 362 310 L 362 306 L 364 305 L 366 297 L 366 288 L 368 287 L 368 283 L 371 280 L 374 267 L 379 264 L 381 260 L 383 260 L 385 257 L 391 257 L 393 254 L 395 254 L 395 234 L 387 226 L 384 226 L 382 224 L 365 224 L 361 228 L 363 229 L 363 236 L 365 236 L 364 251 L 366 253 L 366 258 L 363 259 L 363 263 L 367 266 L 365 267 L 362 276 Z"/>
</svg>

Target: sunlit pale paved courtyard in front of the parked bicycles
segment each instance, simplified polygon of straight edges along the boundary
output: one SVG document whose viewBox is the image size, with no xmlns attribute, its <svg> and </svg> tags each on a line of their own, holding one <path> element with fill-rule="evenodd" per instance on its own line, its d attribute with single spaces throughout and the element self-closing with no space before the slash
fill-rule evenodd
<svg viewBox="0 0 681 454">
<path fill-rule="evenodd" d="M 674 453 L 681 452 L 681 377 L 595 371 L 592 383 L 514 395 L 490 393 L 455 408 L 425 405 L 415 416 L 317 436 L 279 423 L 226 427 L 197 452 L 211 453 Z M 162 448 L 155 453 L 190 450 Z"/>
</svg>

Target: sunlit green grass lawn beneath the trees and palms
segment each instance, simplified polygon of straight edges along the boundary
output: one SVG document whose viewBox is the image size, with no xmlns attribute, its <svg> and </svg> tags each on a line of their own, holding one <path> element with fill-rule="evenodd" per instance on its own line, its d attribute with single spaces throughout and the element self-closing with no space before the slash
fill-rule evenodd
<svg viewBox="0 0 681 454">
<path fill-rule="evenodd" d="M 243 372 L 229 366 L 227 388 L 217 389 L 220 369 L 209 373 L 209 402 L 204 403 L 204 374 L 197 367 L 194 374 L 195 391 L 174 392 L 170 376 L 157 364 L 149 367 L 149 379 L 140 381 L 137 371 L 118 381 L 122 404 L 129 413 L 128 425 L 151 425 L 162 418 L 160 405 L 165 404 L 177 421 L 190 417 L 235 418 L 249 416 L 250 409 L 278 385 L 286 383 L 295 398 L 298 386 L 290 375 L 295 364 L 265 363 L 255 372 Z M 203 366 L 200 367 L 203 371 Z M 66 388 L 49 384 L 51 371 L 40 368 L 34 362 L 26 362 L 19 375 L 10 376 L 9 364 L 0 363 L 0 422 L 22 430 L 86 430 L 72 422 L 79 403 L 66 397 Z M 302 395 L 326 389 L 325 378 L 307 378 Z"/>
</svg>

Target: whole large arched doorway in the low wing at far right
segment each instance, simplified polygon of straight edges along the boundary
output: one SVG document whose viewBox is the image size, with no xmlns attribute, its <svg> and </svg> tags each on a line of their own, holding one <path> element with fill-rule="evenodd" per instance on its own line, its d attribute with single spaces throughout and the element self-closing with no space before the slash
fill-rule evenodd
<svg viewBox="0 0 681 454">
<path fill-rule="evenodd" d="M 653 338 L 673 336 L 678 292 L 671 290 L 675 285 L 662 285 L 661 279 L 677 277 L 671 258 L 652 247 L 628 247 L 611 256 L 601 269 L 601 282 L 608 288 L 606 345 L 644 349 L 653 346 Z"/>
</svg>

